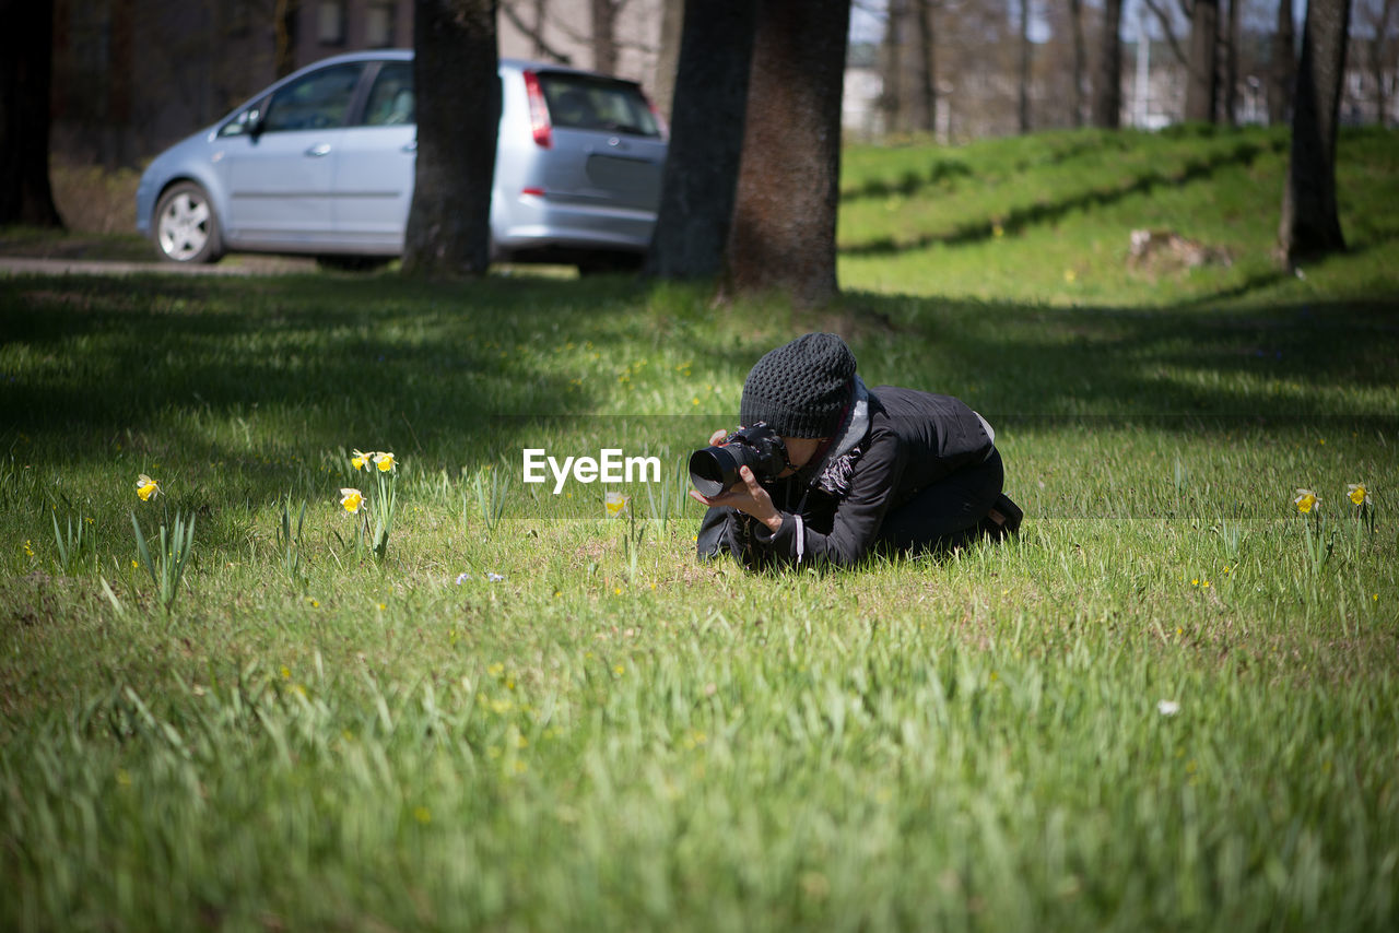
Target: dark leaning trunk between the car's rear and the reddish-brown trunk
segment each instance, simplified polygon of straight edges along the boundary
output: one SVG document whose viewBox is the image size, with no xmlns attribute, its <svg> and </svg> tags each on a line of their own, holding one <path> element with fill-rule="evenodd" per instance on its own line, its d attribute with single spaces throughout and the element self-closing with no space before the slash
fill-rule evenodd
<svg viewBox="0 0 1399 933">
<path fill-rule="evenodd" d="M 670 151 L 646 274 L 713 278 L 723 267 L 743 152 L 753 0 L 688 0 L 670 106 Z"/>
</svg>

